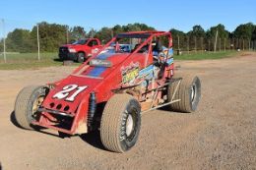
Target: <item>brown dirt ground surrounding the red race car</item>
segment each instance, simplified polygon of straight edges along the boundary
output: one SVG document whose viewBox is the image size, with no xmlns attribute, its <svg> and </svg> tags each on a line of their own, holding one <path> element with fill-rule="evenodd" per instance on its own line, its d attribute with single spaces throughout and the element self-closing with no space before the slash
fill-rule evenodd
<svg viewBox="0 0 256 170">
<path fill-rule="evenodd" d="M 104 150 L 98 134 L 61 139 L 13 123 L 21 88 L 59 80 L 73 68 L 0 71 L 3 170 L 256 169 L 256 54 L 176 65 L 201 79 L 198 110 L 146 113 L 138 143 L 123 154 Z"/>
</svg>

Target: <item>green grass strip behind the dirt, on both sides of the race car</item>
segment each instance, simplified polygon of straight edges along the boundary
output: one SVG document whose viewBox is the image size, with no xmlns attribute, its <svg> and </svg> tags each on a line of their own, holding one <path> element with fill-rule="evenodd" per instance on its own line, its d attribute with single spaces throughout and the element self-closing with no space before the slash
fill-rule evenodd
<svg viewBox="0 0 256 170">
<path fill-rule="evenodd" d="M 222 59 L 237 55 L 236 51 L 221 52 L 193 52 L 190 54 L 174 55 L 176 60 L 206 60 Z M 37 60 L 37 53 L 7 53 L 7 63 L 4 63 L 3 55 L 0 54 L 0 70 L 26 70 L 42 67 L 62 66 L 58 60 L 57 53 L 40 53 L 40 61 Z M 79 66 L 79 63 L 75 63 Z"/>
</svg>

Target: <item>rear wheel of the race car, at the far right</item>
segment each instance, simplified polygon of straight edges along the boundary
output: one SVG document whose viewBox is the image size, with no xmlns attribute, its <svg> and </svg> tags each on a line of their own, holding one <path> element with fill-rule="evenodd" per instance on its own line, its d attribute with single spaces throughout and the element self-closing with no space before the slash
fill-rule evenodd
<svg viewBox="0 0 256 170">
<path fill-rule="evenodd" d="M 177 75 L 176 78 L 182 78 L 180 85 L 174 96 L 175 99 L 181 99 L 178 102 L 169 105 L 169 108 L 173 111 L 190 113 L 196 110 L 199 100 L 201 98 L 201 83 L 200 79 L 192 75 Z M 175 86 L 178 83 L 175 82 L 168 86 L 167 98 L 171 100 L 174 93 Z"/>
</svg>

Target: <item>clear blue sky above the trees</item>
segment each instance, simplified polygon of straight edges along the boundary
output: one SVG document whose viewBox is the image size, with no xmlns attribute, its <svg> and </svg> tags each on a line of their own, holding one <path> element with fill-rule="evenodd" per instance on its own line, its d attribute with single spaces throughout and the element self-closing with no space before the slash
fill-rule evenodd
<svg viewBox="0 0 256 170">
<path fill-rule="evenodd" d="M 7 32 L 42 21 L 86 30 L 144 23 L 185 32 L 195 25 L 223 24 L 233 31 L 240 24 L 256 24 L 256 0 L 0 0 L 0 19 Z"/>
</svg>

